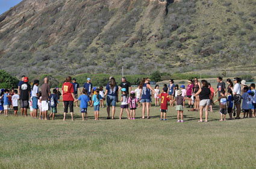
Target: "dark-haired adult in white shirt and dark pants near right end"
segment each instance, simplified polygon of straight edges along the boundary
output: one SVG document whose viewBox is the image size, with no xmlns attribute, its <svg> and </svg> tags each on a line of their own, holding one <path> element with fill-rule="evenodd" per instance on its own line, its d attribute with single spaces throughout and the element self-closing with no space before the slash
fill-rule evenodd
<svg viewBox="0 0 256 169">
<path fill-rule="evenodd" d="M 240 119 L 240 113 L 241 113 L 241 79 L 239 77 L 235 77 L 234 79 L 234 89 L 233 89 L 233 95 L 234 95 L 234 104 L 237 108 L 237 116 L 236 119 Z"/>
</svg>

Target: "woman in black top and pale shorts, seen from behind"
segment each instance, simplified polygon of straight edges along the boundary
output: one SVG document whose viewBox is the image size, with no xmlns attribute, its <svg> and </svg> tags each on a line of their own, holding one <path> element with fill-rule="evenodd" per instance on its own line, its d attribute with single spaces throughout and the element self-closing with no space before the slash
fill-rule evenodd
<svg viewBox="0 0 256 169">
<path fill-rule="evenodd" d="M 202 114 L 205 108 L 205 122 L 208 122 L 208 107 L 211 105 L 211 90 L 208 88 L 208 82 L 206 80 L 202 80 L 202 88 L 195 93 L 195 96 L 199 96 L 200 99 L 200 120 L 198 122 L 202 122 Z"/>
</svg>

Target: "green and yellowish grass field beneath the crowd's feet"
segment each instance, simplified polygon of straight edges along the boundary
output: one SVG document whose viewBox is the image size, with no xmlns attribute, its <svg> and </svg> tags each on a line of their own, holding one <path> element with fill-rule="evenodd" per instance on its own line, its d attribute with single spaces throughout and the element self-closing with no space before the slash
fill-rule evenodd
<svg viewBox="0 0 256 169">
<path fill-rule="evenodd" d="M 75 121 L 63 122 L 62 112 L 54 121 L 1 115 L 0 168 L 256 168 L 256 118 L 220 122 L 217 105 L 208 123 L 187 108 L 184 123 L 174 108 L 160 121 L 154 106 L 148 120 L 142 108 L 136 120 L 107 120 L 101 108 L 95 121 L 89 108 L 83 122 L 75 107 Z"/>
</svg>

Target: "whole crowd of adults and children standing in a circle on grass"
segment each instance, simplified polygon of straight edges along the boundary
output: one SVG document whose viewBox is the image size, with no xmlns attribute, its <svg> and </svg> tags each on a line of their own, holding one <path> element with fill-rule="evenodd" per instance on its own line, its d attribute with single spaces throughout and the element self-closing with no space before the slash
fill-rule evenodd
<svg viewBox="0 0 256 169">
<path fill-rule="evenodd" d="M 64 117 L 68 110 L 73 118 L 74 103 L 78 107 L 80 101 L 80 112 L 83 120 L 87 120 L 87 108 L 93 107 L 95 120 L 99 120 L 99 110 L 104 107 L 104 101 L 107 104 L 107 119 L 114 119 L 116 113 L 116 103 L 120 102 L 120 115 L 122 119 L 123 111 L 125 110 L 128 119 L 136 119 L 136 109 L 142 106 L 142 117 L 140 119 L 150 119 L 149 110 L 151 108 L 152 97 L 154 97 L 155 106 L 160 105 L 160 120 L 167 120 L 166 113 L 168 107 L 174 107 L 177 111 L 177 122 L 184 122 L 183 111 L 185 101 L 187 100 L 189 111 L 199 111 L 199 121 L 203 122 L 203 111 L 205 111 L 205 122 L 208 121 L 208 110 L 213 111 L 212 105 L 219 102 L 220 120 L 226 120 L 226 114 L 229 114 L 229 119 L 240 119 L 240 113 L 243 110 L 243 118 L 255 117 L 256 95 L 255 84 L 246 85 L 245 80 L 235 77 L 233 80 L 227 79 L 223 82 L 222 77 L 217 77 L 217 89 L 214 90 L 207 80 L 198 78 L 187 80 L 187 87 L 175 85 L 173 79 L 169 80 L 169 85 L 164 84 L 160 90 L 159 85 L 155 85 L 154 89 L 150 85 L 151 79 L 143 78 L 137 89 L 132 90 L 131 83 L 122 77 L 122 82 L 117 86 L 114 77 L 109 78 L 107 86 L 93 87 L 91 79 L 87 78 L 83 89 L 80 89 L 75 78 L 66 77 L 63 83 L 61 92 L 58 87 L 51 92 L 51 86 L 48 83 L 48 78 L 45 77 L 43 85 L 40 86 L 39 80 L 34 80 L 32 86 L 28 83 L 28 77 L 22 76 L 22 80 L 18 84 L 18 89 L 1 89 L 0 95 L 0 114 L 4 110 L 4 115 L 8 116 L 8 110 L 14 111 L 14 116 L 17 116 L 18 107 L 20 106 L 20 114 L 27 116 L 27 110 L 30 108 L 30 116 L 37 118 L 39 110 L 39 119 L 54 120 L 57 113 L 57 107 L 60 102 L 63 102 Z M 234 82 L 234 83 L 233 83 Z M 227 87 L 226 87 L 227 84 Z M 119 99 L 119 92 L 121 93 Z M 78 97 L 78 93 L 80 96 Z M 218 94 L 214 101 L 214 96 Z M 60 96 L 62 95 L 62 99 Z M 160 102 L 160 103 L 159 103 Z M 20 104 L 19 104 L 20 103 Z M 241 109 L 242 103 L 242 109 Z M 130 110 L 129 110 L 130 109 Z M 110 116 L 111 110 L 111 116 Z M 51 113 L 48 116 L 48 111 Z M 145 117 L 146 111 L 146 117 Z M 85 116 L 85 118 L 84 118 Z"/>
</svg>

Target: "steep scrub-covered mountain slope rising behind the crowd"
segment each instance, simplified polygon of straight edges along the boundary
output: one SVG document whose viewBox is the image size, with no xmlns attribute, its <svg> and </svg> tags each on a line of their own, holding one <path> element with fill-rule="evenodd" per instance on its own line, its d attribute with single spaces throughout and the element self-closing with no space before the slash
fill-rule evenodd
<svg viewBox="0 0 256 169">
<path fill-rule="evenodd" d="M 23 0 L 0 16 L 11 74 L 186 72 L 256 63 L 255 0 Z"/>
</svg>

